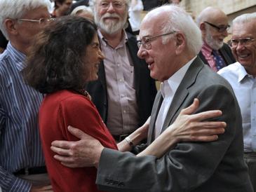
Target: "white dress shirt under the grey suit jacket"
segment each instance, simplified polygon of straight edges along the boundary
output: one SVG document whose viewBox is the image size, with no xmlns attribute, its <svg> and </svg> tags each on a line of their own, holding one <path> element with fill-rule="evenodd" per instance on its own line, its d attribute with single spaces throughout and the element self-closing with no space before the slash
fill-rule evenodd
<svg viewBox="0 0 256 192">
<path fill-rule="evenodd" d="M 163 123 L 166 120 L 166 115 L 168 113 L 168 110 L 170 108 L 170 104 L 173 101 L 173 97 L 175 95 L 175 92 L 177 88 L 179 87 L 180 83 L 182 82 L 182 79 L 184 75 L 187 72 L 187 69 L 189 69 L 189 66 L 191 63 L 196 59 L 194 57 L 192 60 L 187 62 L 182 68 L 180 68 L 173 76 L 168 78 L 168 80 L 163 81 L 161 83 L 161 94 L 163 97 L 163 102 L 161 104 L 161 107 L 159 109 L 159 114 L 156 118 L 156 125 L 155 125 L 155 138 L 159 137 L 161 134 L 161 130 L 163 128 Z"/>
</svg>

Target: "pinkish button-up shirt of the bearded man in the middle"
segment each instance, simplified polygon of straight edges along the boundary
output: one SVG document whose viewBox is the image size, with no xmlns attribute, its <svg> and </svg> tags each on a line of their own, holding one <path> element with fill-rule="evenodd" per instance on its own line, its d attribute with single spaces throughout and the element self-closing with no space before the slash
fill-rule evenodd
<svg viewBox="0 0 256 192">
<path fill-rule="evenodd" d="M 139 126 L 135 90 L 135 71 L 126 42 L 128 36 L 123 31 L 123 39 L 116 48 L 98 30 L 100 47 L 104 59 L 107 83 L 107 128 L 112 135 L 130 134 Z"/>
</svg>

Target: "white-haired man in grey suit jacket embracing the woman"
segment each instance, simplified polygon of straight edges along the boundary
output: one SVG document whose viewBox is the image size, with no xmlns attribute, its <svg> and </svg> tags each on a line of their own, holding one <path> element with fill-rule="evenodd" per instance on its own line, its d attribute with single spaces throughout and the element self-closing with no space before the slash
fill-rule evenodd
<svg viewBox="0 0 256 192">
<path fill-rule="evenodd" d="M 178 142 L 157 159 L 104 148 L 76 130 L 78 142 L 52 143 L 55 158 L 67 166 L 97 167 L 96 184 L 103 191 L 252 192 L 238 102 L 229 83 L 197 56 L 201 45 L 200 30 L 178 6 L 156 8 L 142 20 L 137 55 L 146 60 L 151 77 L 163 82 L 151 111 L 147 144 L 157 140 L 195 97 L 201 102 L 196 114 L 223 112 L 211 119 L 227 123 L 215 142 Z"/>
</svg>

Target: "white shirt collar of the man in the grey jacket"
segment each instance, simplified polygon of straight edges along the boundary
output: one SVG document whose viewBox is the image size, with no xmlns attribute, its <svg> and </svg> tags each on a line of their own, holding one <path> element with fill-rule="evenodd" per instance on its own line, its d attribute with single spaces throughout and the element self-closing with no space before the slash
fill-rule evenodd
<svg viewBox="0 0 256 192">
<path fill-rule="evenodd" d="M 163 81 L 161 83 L 161 94 L 164 97 L 170 97 L 171 94 L 174 95 L 177 88 L 179 87 L 180 83 L 182 82 L 182 79 L 184 78 L 184 75 L 187 72 L 187 69 L 189 69 L 189 66 L 192 64 L 192 62 L 196 59 L 196 56 L 191 59 L 189 62 L 184 64 L 182 68 L 180 68 L 178 71 L 173 74 L 173 76 L 170 76 L 168 80 Z"/>
</svg>

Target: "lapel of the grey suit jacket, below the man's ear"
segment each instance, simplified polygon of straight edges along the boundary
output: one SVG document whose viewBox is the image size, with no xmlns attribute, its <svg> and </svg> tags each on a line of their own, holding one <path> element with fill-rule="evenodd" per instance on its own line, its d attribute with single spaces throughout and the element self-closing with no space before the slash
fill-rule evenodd
<svg viewBox="0 0 256 192">
<path fill-rule="evenodd" d="M 194 62 L 192 62 L 189 69 L 187 70 L 187 73 L 184 75 L 182 82 L 177 88 L 177 91 L 175 92 L 173 101 L 170 104 L 170 108 L 166 115 L 166 120 L 163 123 L 163 128 L 161 132 L 163 132 L 163 130 L 166 130 L 168 125 L 170 125 L 170 123 L 173 121 L 173 117 L 175 116 L 177 111 L 179 111 L 184 100 L 187 98 L 187 95 L 189 95 L 188 88 L 194 84 L 194 82 L 196 81 L 197 74 L 199 71 L 201 71 L 202 68 L 203 68 L 203 62 L 199 57 L 196 57 Z"/>
</svg>

